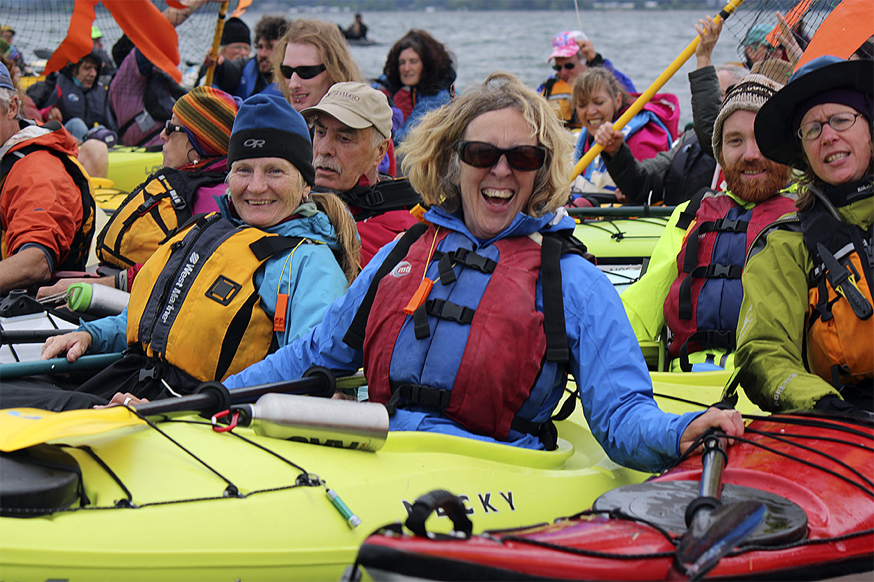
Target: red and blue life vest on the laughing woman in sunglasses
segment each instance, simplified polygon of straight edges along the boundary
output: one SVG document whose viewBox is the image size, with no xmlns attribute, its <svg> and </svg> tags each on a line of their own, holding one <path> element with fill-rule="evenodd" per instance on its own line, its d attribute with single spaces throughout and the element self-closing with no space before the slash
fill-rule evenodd
<svg viewBox="0 0 874 582">
<path fill-rule="evenodd" d="M 554 448 L 555 428 L 534 417 L 569 361 L 559 259 L 581 245 L 551 235 L 476 250 L 460 243 L 472 244 L 417 224 L 380 267 L 344 338 L 363 346 L 371 401 L 433 407 L 477 434 L 506 440 L 514 429 Z M 439 280 L 407 315 L 429 256 Z M 537 309 L 541 269 L 546 313 Z"/>
</svg>

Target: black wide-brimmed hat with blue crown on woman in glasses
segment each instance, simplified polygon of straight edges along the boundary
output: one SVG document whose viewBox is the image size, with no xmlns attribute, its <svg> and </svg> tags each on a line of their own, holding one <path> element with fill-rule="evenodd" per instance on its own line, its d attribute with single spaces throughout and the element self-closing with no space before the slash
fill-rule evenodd
<svg viewBox="0 0 874 582">
<path fill-rule="evenodd" d="M 794 132 L 794 116 L 805 101 L 831 89 L 861 92 L 867 106 L 867 111 L 861 113 L 865 113 L 871 123 L 874 62 L 848 61 L 830 55 L 817 57 L 794 72 L 786 86 L 774 93 L 759 110 L 754 126 L 759 151 L 781 164 L 806 166 L 801 141 Z"/>
</svg>

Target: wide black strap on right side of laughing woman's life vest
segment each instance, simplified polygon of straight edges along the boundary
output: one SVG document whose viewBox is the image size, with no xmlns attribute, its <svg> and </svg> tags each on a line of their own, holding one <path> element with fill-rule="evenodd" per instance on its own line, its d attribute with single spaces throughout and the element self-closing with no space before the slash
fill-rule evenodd
<svg viewBox="0 0 874 582">
<path fill-rule="evenodd" d="M 565 330 L 565 299 L 561 292 L 562 243 L 555 236 L 544 236 L 540 246 L 540 274 L 544 293 L 544 333 L 546 359 L 558 364 L 571 361 Z"/>
</svg>

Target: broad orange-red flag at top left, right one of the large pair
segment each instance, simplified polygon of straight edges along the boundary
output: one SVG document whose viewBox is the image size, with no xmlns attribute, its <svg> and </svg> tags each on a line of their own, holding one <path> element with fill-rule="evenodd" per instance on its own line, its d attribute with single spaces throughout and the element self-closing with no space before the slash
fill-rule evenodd
<svg viewBox="0 0 874 582">
<path fill-rule="evenodd" d="M 76 0 L 76 3 L 79 2 Z M 112 12 L 115 22 L 145 58 L 176 79 L 177 83 L 182 80 L 178 68 L 179 38 L 176 28 L 155 4 L 149 0 L 103 0 L 103 5 Z"/>
</svg>

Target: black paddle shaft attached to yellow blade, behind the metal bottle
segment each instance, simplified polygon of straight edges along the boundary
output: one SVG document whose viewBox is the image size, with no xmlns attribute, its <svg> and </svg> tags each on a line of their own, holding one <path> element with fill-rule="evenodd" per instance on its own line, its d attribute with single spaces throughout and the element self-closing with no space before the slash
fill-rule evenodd
<svg viewBox="0 0 874 582">
<path fill-rule="evenodd" d="M 137 405 L 136 412 L 144 417 L 179 416 L 198 412 L 212 416 L 232 404 L 253 402 L 269 393 L 309 394 L 330 398 L 336 390 L 334 374 L 322 366 L 312 366 L 300 380 L 283 380 L 257 386 L 228 390 L 220 382 L 204 382 L 194 394 Z"/>
</svg>

